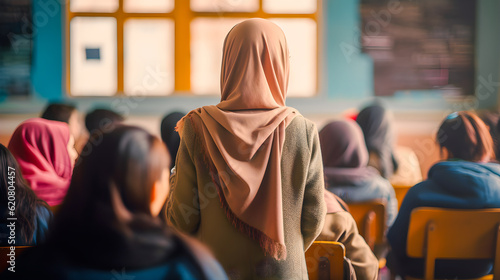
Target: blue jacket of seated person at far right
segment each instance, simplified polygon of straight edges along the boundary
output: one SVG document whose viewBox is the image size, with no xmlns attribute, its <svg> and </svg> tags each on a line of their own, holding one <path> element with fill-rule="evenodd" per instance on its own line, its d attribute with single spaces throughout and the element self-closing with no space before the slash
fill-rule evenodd
<svg viewBox="0 0 500 280">
<path fill-rule="evenodd" d="M 423 259 L 406 255 L 406 239 L 411 211 L 417 207 L 454 209 L 500 208 L 500 164 L 468 161 L 444 161 L 435 164 L 428 179 L 406 194 L 396 221 L 387 233 L 391 257 L 400 272 L 414 277 L 423 274 Z M 390 258 L 388 259 L 388 261 Z M 436 262 L 436 277 L 473 278 L 488 274 L 491 261 L 467 260 Z"/>
</svg>

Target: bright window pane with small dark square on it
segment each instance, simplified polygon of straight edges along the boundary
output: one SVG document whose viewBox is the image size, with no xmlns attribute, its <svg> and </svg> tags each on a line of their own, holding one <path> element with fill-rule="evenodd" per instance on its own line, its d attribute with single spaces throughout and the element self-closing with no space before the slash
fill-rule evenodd
<svg viewBox="0 0 500 280">
<path fill-rule="evenodd" d="M 116 93 L 116 20 L 75 17 L 70 23 L 72 95 Z"/>
</svg>

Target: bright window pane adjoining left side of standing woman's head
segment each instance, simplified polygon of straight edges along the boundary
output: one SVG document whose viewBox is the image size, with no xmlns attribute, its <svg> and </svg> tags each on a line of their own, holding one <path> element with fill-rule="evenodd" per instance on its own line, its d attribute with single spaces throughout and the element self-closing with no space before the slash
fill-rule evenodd
<svg viewBox="0 0 500 280">
<path fill-rule="evenodd" d="M 243 19 L 197 18 L 191 22 L 191 91 L 220 94 L 224 38 Z"/>
</svg>

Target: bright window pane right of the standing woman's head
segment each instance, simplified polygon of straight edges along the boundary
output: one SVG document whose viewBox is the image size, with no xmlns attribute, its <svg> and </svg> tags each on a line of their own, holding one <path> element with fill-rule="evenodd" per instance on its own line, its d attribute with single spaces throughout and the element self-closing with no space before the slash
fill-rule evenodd
<svg viewBox="0 0 500 280">
<path fill-rule="evenodd" d="M 317 84 L 317 32 L 312 19 L 271 19 L 285 32 L 290 49 L 287 96 L 313 96 Z"/>
</svg>

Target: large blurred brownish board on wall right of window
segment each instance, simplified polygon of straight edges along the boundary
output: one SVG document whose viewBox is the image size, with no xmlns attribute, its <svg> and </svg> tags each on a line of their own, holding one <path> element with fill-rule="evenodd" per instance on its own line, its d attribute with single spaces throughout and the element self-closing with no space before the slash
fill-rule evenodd
<svg viewBox="0 0 500 280">
<path fill-rule="evenodd" d="M 476 0 L 361 0 L 360 15 L 376 96 L 474 93 Z"/>
</svg>

